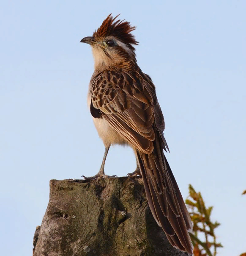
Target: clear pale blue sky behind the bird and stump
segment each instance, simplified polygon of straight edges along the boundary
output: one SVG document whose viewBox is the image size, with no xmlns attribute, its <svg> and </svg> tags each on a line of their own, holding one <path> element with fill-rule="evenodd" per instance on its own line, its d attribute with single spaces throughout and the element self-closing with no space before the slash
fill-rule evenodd
<svg viewBox="0 0 246 256">
<path fill-rule="evenodd" d="M 93 73 L 79 44 L 109 13 L 137 26 L 137 60 L 156 85 L 167 155 L 213 205 L 221 256 L 246 251 L 246 1 L 4 1 L 0 6 L 1 255 L 32 255 L 49 180 L 97 173 L 104 146 L 86 106 Z M 134 171 L 129 148 L 106 173 Z"/>
</svg>

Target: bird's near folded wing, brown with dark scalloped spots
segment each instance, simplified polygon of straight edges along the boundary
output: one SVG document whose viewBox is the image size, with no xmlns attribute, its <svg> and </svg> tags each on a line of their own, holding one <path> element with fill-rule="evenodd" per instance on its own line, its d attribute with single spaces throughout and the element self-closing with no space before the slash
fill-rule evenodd
<svg viewBox="0 0 246 256">
<path fill-rule="evenodd" d="M 99 110 L 109 125 L 141 152 L 153 151 L 153 92 L 144 86 L 141 76 L 102 72 L 94 80 L 91 94 L 91 111 Z"/>
</svg>

